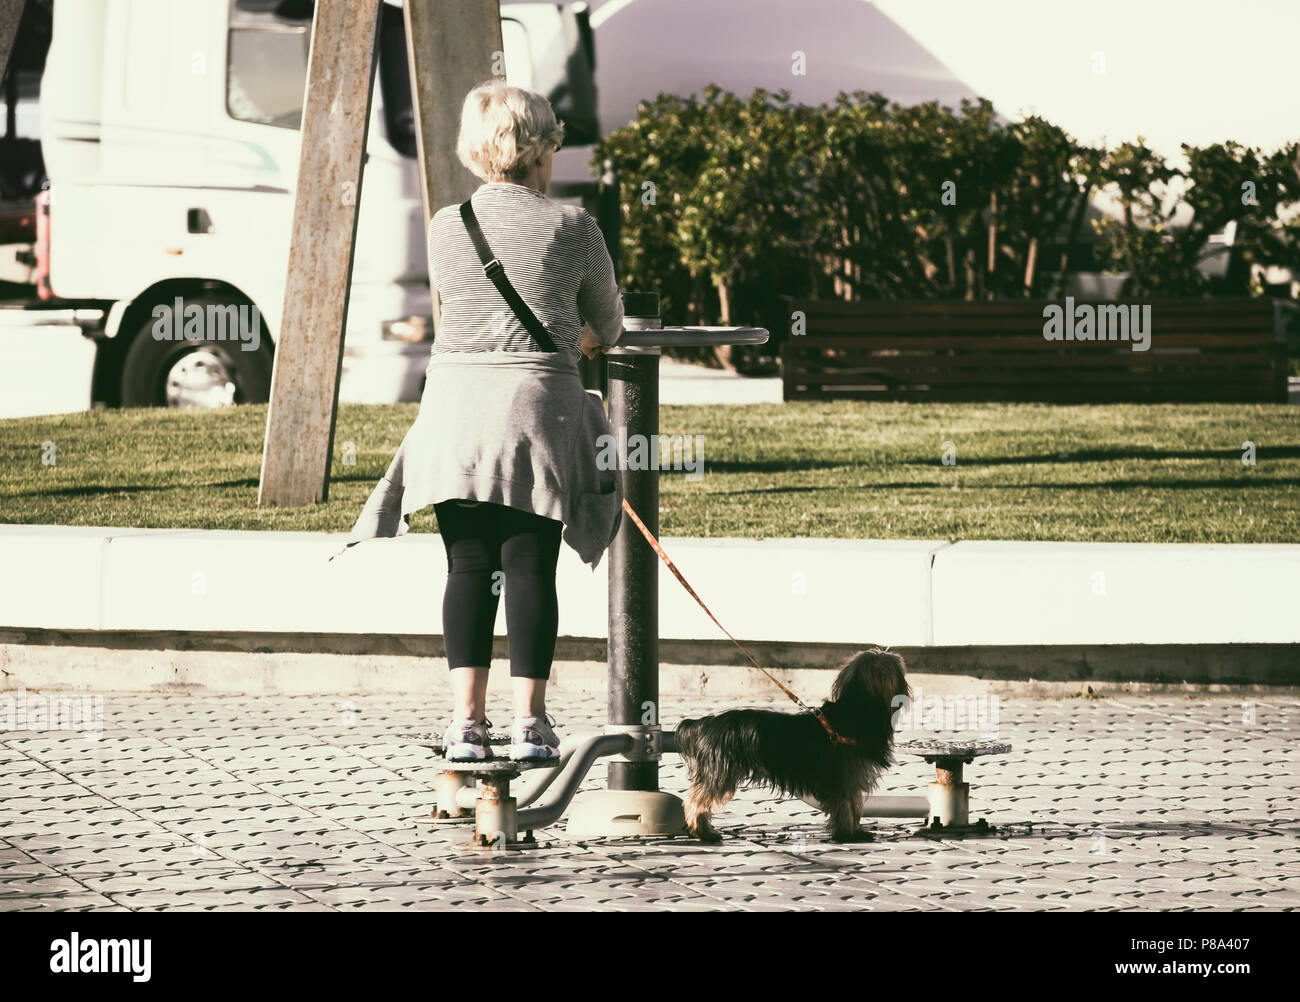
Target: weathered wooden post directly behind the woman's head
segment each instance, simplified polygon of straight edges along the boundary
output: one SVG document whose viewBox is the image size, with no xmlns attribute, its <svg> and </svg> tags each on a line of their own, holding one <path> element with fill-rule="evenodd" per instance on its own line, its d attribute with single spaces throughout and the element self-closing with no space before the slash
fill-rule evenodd
<svg viewBox="0 0 1300 1002">
<path fill-rule="evenodd" d="M 478 178 L 456 159 L 456 136 L 465 95 L 506 71 L 500 5 L 498 0 L 406 0 L 406 34 L 428 239 L 433 213 L 464 201 L 478 187 Z M 434 294 L 434 337 L 441 321 Z"/>
</svg>

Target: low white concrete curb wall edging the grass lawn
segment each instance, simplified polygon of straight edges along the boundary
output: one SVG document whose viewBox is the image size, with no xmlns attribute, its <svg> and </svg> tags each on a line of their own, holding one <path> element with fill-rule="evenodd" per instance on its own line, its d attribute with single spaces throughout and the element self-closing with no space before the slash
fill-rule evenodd
<svg viewBox="0 0 1300 1002">
<path fill-rule="evenodd" d="M 0 525 L 0 626 L 439 634 L 433 534 Z M 666 538 L 737 637 L 820 643 L 1296 643 L 1300 545 Z M 607 564 L 564 547 L 560 634 L 607 636 Z M 718 628 L 667 571 L 660 636 Z M 498 615 L 504 636 L 504 603 Z"/>
</svg>

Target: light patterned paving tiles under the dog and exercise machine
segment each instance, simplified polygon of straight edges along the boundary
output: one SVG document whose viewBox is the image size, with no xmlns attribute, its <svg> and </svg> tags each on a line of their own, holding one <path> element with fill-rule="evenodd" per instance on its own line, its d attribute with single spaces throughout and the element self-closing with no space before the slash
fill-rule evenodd
<svg viewBox="0 0 1300 1002">
<path fill-rule="evenodd" d="M 555 829 L 530 854 L 407 820 L 433 769 L 395 736 L 441 725 L 425 699 L 103 699 L 99 739 L 0 732 L 0 910 L 1300 907 L 1294 699 L 1004 700 L 1015 751 L 968 773 L 991 838 L 881 820 L 837 846 L 811 808 L 751 791 L 719 815 L 722 846 Z M 555 702 L 568 733 L 603 712 Z M 881 793 L 927 772 L 906 762 Z M 684 788 L 672 758 L 663 785 Z"/>
</svg>

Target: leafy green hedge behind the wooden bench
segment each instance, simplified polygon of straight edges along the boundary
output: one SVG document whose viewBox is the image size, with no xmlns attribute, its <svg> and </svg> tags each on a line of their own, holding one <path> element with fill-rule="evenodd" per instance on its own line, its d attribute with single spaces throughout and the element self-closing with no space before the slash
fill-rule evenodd
<svg viewBox="0 0 1300 1002">
<path fill-rule="evenodd" d="M 1300 224 L 1282 222 L 1300 147 L 1183 151 L 1186 172 L 1141 139 L 1091 148 L 987 100 L 904 108 L 857 91 L 807 107 L 710 86 L 642 101 L 594 162 L 619 173 L 624 287 L 658 289 L 668 324 L 777 333 L 783 296 L 1046 296 L 1075 270 L 1130 272 L 1131 296 L 1244 295 L 1252 263 L 1300 269 Z M 1089 218 L 1098 192 L 1122 218 Z M 1208 281 L 1205 238 L 1232 220 L 1232 269 Z"/>
</svg>

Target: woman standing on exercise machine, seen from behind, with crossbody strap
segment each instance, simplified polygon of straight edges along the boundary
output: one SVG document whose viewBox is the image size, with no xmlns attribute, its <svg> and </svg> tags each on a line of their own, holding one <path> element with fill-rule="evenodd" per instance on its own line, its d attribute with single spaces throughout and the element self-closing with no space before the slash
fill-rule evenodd
<svg viewBox="0 0 1300 1002">
<path fill-rule="evenodd" d="M 494 81 L 465 97 L 456 153 L 484 183 L 469 199 L 472 213 L 448 205 L 429 224 L 442 321 L 420 415 L 351 537 L 399 535 L 411 512 L 434 506 L 447 551 L 450 759 L 490 756 L 485 698 L 503 587 L 515 697 L 510 755 L 559 755 L 546 682 L 562 532 L 595 568 L 619 526 L 619 473 L 597 463 L 610 426 L 599 399 L 582 389 L 577 361 L 619 339 L 623 304 L 595 221 L 546 196 L 563 133 L 540 94 Z M 490 278 L 489 255 L 521 311 Z M 534 321 L 541 337 L 529 333 L 529 315 L 545 328 Z"/>
</svg>

